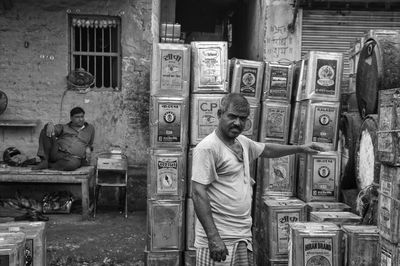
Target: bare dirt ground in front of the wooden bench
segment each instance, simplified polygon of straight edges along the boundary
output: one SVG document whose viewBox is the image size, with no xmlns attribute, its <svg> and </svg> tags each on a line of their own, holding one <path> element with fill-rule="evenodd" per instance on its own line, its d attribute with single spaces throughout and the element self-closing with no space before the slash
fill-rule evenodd
<svg viewBox="0 0 400 266">
<path fill-rule="evenodd" d="M 146 245 L 146 212 L 103 210 L 96 219 L 79 214 L 49 215 L 47 265 L 141 266 Z"/>
</svg>

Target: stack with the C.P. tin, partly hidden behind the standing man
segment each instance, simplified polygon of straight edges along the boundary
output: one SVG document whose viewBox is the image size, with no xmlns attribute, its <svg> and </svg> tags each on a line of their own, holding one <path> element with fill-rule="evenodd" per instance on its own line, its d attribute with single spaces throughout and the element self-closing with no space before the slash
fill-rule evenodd
<svg viewBox="0 0 400 266">
<path fill-rule="evenodd" d="M 196 214 L 192 200 L 192 153 L 194 147 L 218 126 L 217 111 L 222 97 L 230 92 L 227 42 L 192 42 L 190 138 L 186 199 L 185 265 L 196 265 L 194 235 Z"/>
</svg>

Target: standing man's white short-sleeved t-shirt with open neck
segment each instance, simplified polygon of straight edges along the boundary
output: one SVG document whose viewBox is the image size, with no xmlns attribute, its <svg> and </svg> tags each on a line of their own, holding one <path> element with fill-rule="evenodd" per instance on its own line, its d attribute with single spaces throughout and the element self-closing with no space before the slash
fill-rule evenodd
<svg viewBox="0 0 400 266">
<path fill-rule="evenodd" d="M 251 202 L 255 183 L 250 177 L 250 162 L 264 150 L 264 143 L 243 135 L 237 140 L 243 148 L 243 161 L 222 142 L 215 131 L 193 150 L 192 180 L 208 185 L 211 212 L 225 244 L 238 240 L 251 243 Z M 196 219 L 195 247 L 208 247 L 207 235 Z"/>
</svg>

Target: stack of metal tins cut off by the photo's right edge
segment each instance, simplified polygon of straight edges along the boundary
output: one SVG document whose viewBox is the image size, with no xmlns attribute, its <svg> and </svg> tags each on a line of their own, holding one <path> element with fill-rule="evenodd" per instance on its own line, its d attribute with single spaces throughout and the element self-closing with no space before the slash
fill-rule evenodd
<svg viewBox="0 0 400 266">
<path fill-rule="evenodd" d="M 378 228 L 381 265 L 400 265 L 400 89 L 379 91 L 378 158 L 381 164 Z"/>
</svg>

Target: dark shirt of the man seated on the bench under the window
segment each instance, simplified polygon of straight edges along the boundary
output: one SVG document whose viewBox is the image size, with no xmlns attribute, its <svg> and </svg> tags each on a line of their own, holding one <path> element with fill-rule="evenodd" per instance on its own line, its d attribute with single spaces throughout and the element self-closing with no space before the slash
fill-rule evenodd
<svg viewBox="0 0 400 266">
<path fill-rule="evenodd" d="M 81 129 L 75 130 L 70 124 L 57 124 L 54 126 L 59 150 L 85 158 L 86 147 L 92 148 L 93 146 L 94 127 L 85 122 Z"/>
</svg>

